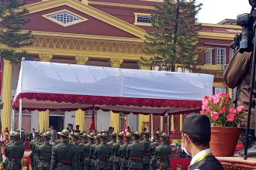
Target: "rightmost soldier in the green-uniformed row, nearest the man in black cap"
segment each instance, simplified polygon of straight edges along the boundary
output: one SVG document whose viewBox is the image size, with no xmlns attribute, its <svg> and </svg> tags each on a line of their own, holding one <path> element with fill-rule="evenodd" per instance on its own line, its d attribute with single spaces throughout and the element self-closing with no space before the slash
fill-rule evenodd
<svg viewBox="0 0 256 170">
<path fill-rule="evenodd" d="M 156 148 L 156 158 L 157 158 L 157 168 L 163 166 L 163 170 L 170 169 L 170 156 L 171 156 L 171 146 L 166 144 L 168 140 L 168 135 L 161 134 L 161 145 Z"/>
</svg>

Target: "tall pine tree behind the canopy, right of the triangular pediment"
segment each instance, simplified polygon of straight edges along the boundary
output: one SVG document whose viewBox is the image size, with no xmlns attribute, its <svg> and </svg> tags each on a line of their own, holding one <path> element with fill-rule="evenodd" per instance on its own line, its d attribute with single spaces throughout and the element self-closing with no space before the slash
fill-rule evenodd
<svg viewBox="0 0 256 170">
<path fill-rule="evenodd" d="M 202 4 L 195 5 L 195 0 L 164 0 L 150 17 L 154 32 L 147 32 L 144 41 L 144 53 L 150 58 L 141 57 L 144 66 L 160 66 L 161 69 L 175 71 L 175 64 L 193 69 L 200 63 L 199 35 L 202 26 L 197 22 Z"/>
</svg>

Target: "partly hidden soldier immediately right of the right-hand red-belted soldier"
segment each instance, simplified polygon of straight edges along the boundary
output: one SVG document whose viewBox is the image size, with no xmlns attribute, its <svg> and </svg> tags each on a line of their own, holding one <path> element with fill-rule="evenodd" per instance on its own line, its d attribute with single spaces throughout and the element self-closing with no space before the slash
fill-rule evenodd
<svg viewBox="0 0 256 170">
<path fill-rule="evenodd" d="M 144 140 L 140 141 L 140 144 L 144 145 L 144 158 L 143 158 L 143 169 L 150 169 L 150 131 L 144 131 Z"/>
</svg>

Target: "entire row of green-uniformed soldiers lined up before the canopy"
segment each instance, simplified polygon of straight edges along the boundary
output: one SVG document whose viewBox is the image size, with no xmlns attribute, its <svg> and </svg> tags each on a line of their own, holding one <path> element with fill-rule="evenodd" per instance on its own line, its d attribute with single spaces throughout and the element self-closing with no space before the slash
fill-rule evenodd
<svg viewBox="0 0 256 170">
<path fill-rule="evenodd" d="M 18 145 L 19 133 L 15 133 L 14 143 Z M 49 143 L 50 131 L 45 133 L 36 131 L 36 139 L 30 143 L 33 170 L 133 170 L 157 169 L 160 166 L 162 169 L 169 169 L 170 167 L 171 147 L 166 145 L 167 134 L 156 132 L 155 141 L 152 143 L 149 139 L 150 131 L 144 133 L 143 141 L 140 141 L 139 132 L 126 135 L 123 135 L 123 132 L 119 134 L 113 132 L 109 142 L 104 131 L 96 135 L 69 133 L 64 129 L 58 134 L 60 134 L 60 141 L 53 146 Z M 14 145 L 5 147 L 7 151 L 5 153 L 8 153 L 7 160 L 12 162 L 12 165 L 19 164 L 24 153 L 22 144 L 19 143 L 19 149 L 13 150 L 13 147 Z M 20 168 L 7 166 L 6 169 Z"/>
</svg>

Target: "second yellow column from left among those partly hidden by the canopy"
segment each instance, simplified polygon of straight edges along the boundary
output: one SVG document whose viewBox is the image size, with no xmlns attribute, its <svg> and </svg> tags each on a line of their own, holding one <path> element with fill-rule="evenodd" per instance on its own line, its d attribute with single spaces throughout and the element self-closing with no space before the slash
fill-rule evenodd
<svg viewBox="0 0 256 170">
<path fill-rule="evenodd" d="M 77 64 L 85 64 L 88 61 L 87 56 L 75 56 Z M 85 111 L 79 109 L 75 111 L 74 124 L 79 125 L 80 131 L 85 131 Z"/>
</svg>

